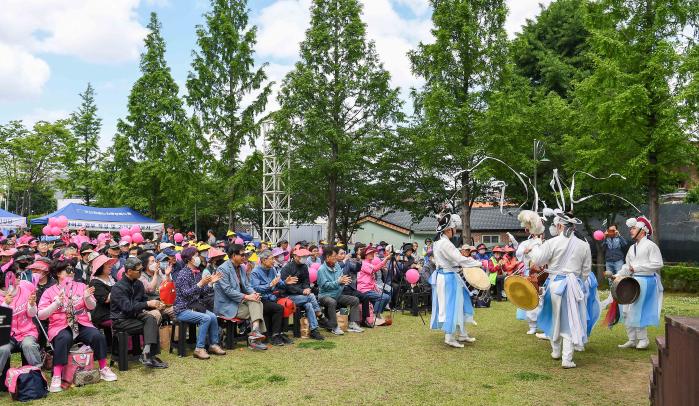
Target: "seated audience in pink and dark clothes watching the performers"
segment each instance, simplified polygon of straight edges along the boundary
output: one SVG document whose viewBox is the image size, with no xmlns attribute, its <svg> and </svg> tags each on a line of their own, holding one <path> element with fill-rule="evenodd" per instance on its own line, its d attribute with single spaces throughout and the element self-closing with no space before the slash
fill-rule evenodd
<svg viewBox="0 0 699 406">
<path fill-rule="evenodd" d="M 181 236 L 181 235 L 180 235 Z M 464 245 L 462 255 L 481 260 L 491 275 L 496 300 L 502 300 L 502 281 L 521 268 L 512 247 Z M 285 305 L 293 302 L 308 322 L 309 337 L 324 340 L 321 330 L 343 335 L 338 311 L 347 309 L 347 331 L 387 324 L 386 309 L 399 306 L 411 269 L 420 281 L 413 291 L 429 291 L 435 272 L 431 241 L 399 250 L 381 242 L 293 247 L 280 241 L 244 244 L 229 231 L 225 240 L 208 233 L 198 242 L 193 233 L 176 239 L 174 229 L 155 241 L 133 244 L 111 237 L 91 240 L 84 229 L 72 237 L 36 239 L 0 236 L 0 304 L 12 308 L 10 342 L 0 345 L 0 367 L 12 352 L 22 352 L 26 364 L 41 366 L 42 351 L 53 349 L 49 390 L 62 390 L 62 378 L 71 347 L 89 346 L 99 364 L 102 380 L 117 375 L 107 365 L 105 332 L 141 334 L 140 362 L 167 368 L 161 360 L 160 326 L 174 321 L 197 326 L 193 356 L 208 359 L 225 355 L 220 345 L 220 320 L 247 323 L 248 347 L 266 350 L 293 341 L 286 333 Z M 161 300 L 161 287 L 174 284 L 175 299 Z M 429 295 L 428 295 L 429 296 Z M 287 301 L 287 302 L 285 302 Z M 343 310 L 344 311 L 344 310 Z M 288 316 L 288 315 L 287 315 Z M 288 324 L 288 323 L 287 323 Z"/>
</svg>

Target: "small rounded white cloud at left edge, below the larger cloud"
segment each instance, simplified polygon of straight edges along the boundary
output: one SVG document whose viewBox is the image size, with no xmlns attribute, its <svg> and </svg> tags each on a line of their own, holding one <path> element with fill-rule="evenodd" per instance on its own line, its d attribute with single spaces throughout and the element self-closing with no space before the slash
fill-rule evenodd
<svg viewBox="0 0 699 406">
<path fill-rule="evenodd" d="M 38 96 L 50 74 L 43 60 L 0 42 L 0 101 Z"/>
</svg>

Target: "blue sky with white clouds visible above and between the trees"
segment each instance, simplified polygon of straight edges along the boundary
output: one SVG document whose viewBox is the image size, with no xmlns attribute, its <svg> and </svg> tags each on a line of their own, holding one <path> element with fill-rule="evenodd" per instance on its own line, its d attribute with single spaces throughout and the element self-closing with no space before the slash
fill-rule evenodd
<svg viewBox="0 0 699 406">
<path fill-rule="evenodd" d="M 394 86 L 418 86 L 405 53 L 430 41 L 427 0 L 363 0 L 368 35 L 376 41 Z M 508 0 L 508 33 L 549 0 Z M 291 68 L 308 25 L 310 0 L 252 0 L 251 23 L 258 26 L 257 61 L 268 62 L 277 83 Z M 167 43 L 166 59 L 184 92 L 195 25 L 202 24 L 208 0 L 0 0 L 0 123 L 66 117 L 80 103 L 78 93 L 91 82 L 103 120 L 104 148 L 118 118 L 126 115 L 138 56 L 151 11 L 158 13 Z M 271 100 L 269 108 L 276 102 Z"/>
</svg>

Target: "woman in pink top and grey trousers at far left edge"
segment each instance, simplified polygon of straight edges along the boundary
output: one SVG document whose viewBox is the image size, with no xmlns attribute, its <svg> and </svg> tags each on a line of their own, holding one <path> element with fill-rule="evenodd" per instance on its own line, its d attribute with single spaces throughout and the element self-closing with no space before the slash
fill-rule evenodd
<svg viewBox="0 0 699 406">
<path fill-rule="evenodd" d="M 32 269 L 30 265 L 28 268 Z M 39 265 L 36 265 L 39 266 Z M 9 266 L 0 273 L 0 306 L 12 309 L 10 342 L 0 346 L 0 368 L 5 366 L 12 351 L 21 350 L 27 364 L 41 365 L 41 353 L 37 340 L 39 333 L 32 321 L 36 316 L 36 288 L 29 281 L 20 281 L 17 268 Z"/>
</svg>

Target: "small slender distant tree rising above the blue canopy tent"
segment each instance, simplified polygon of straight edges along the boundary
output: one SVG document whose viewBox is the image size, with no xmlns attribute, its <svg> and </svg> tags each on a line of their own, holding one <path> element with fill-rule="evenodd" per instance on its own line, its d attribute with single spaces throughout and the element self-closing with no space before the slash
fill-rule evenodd
<svg viewBox="0 0 699 406">
<path fill-rule="evenodd" d="M 94 173 L 100 159 L 98 141 L 102 119 L 97 116 L 95 89 L 90 83 L 80 98 L 82 103 L 69 120 L 74 139 L 64 151 L 66 171 L 57 183 L 69 196 L 79 197 L 89 205 L 96 193 Z"/>
</svg>

